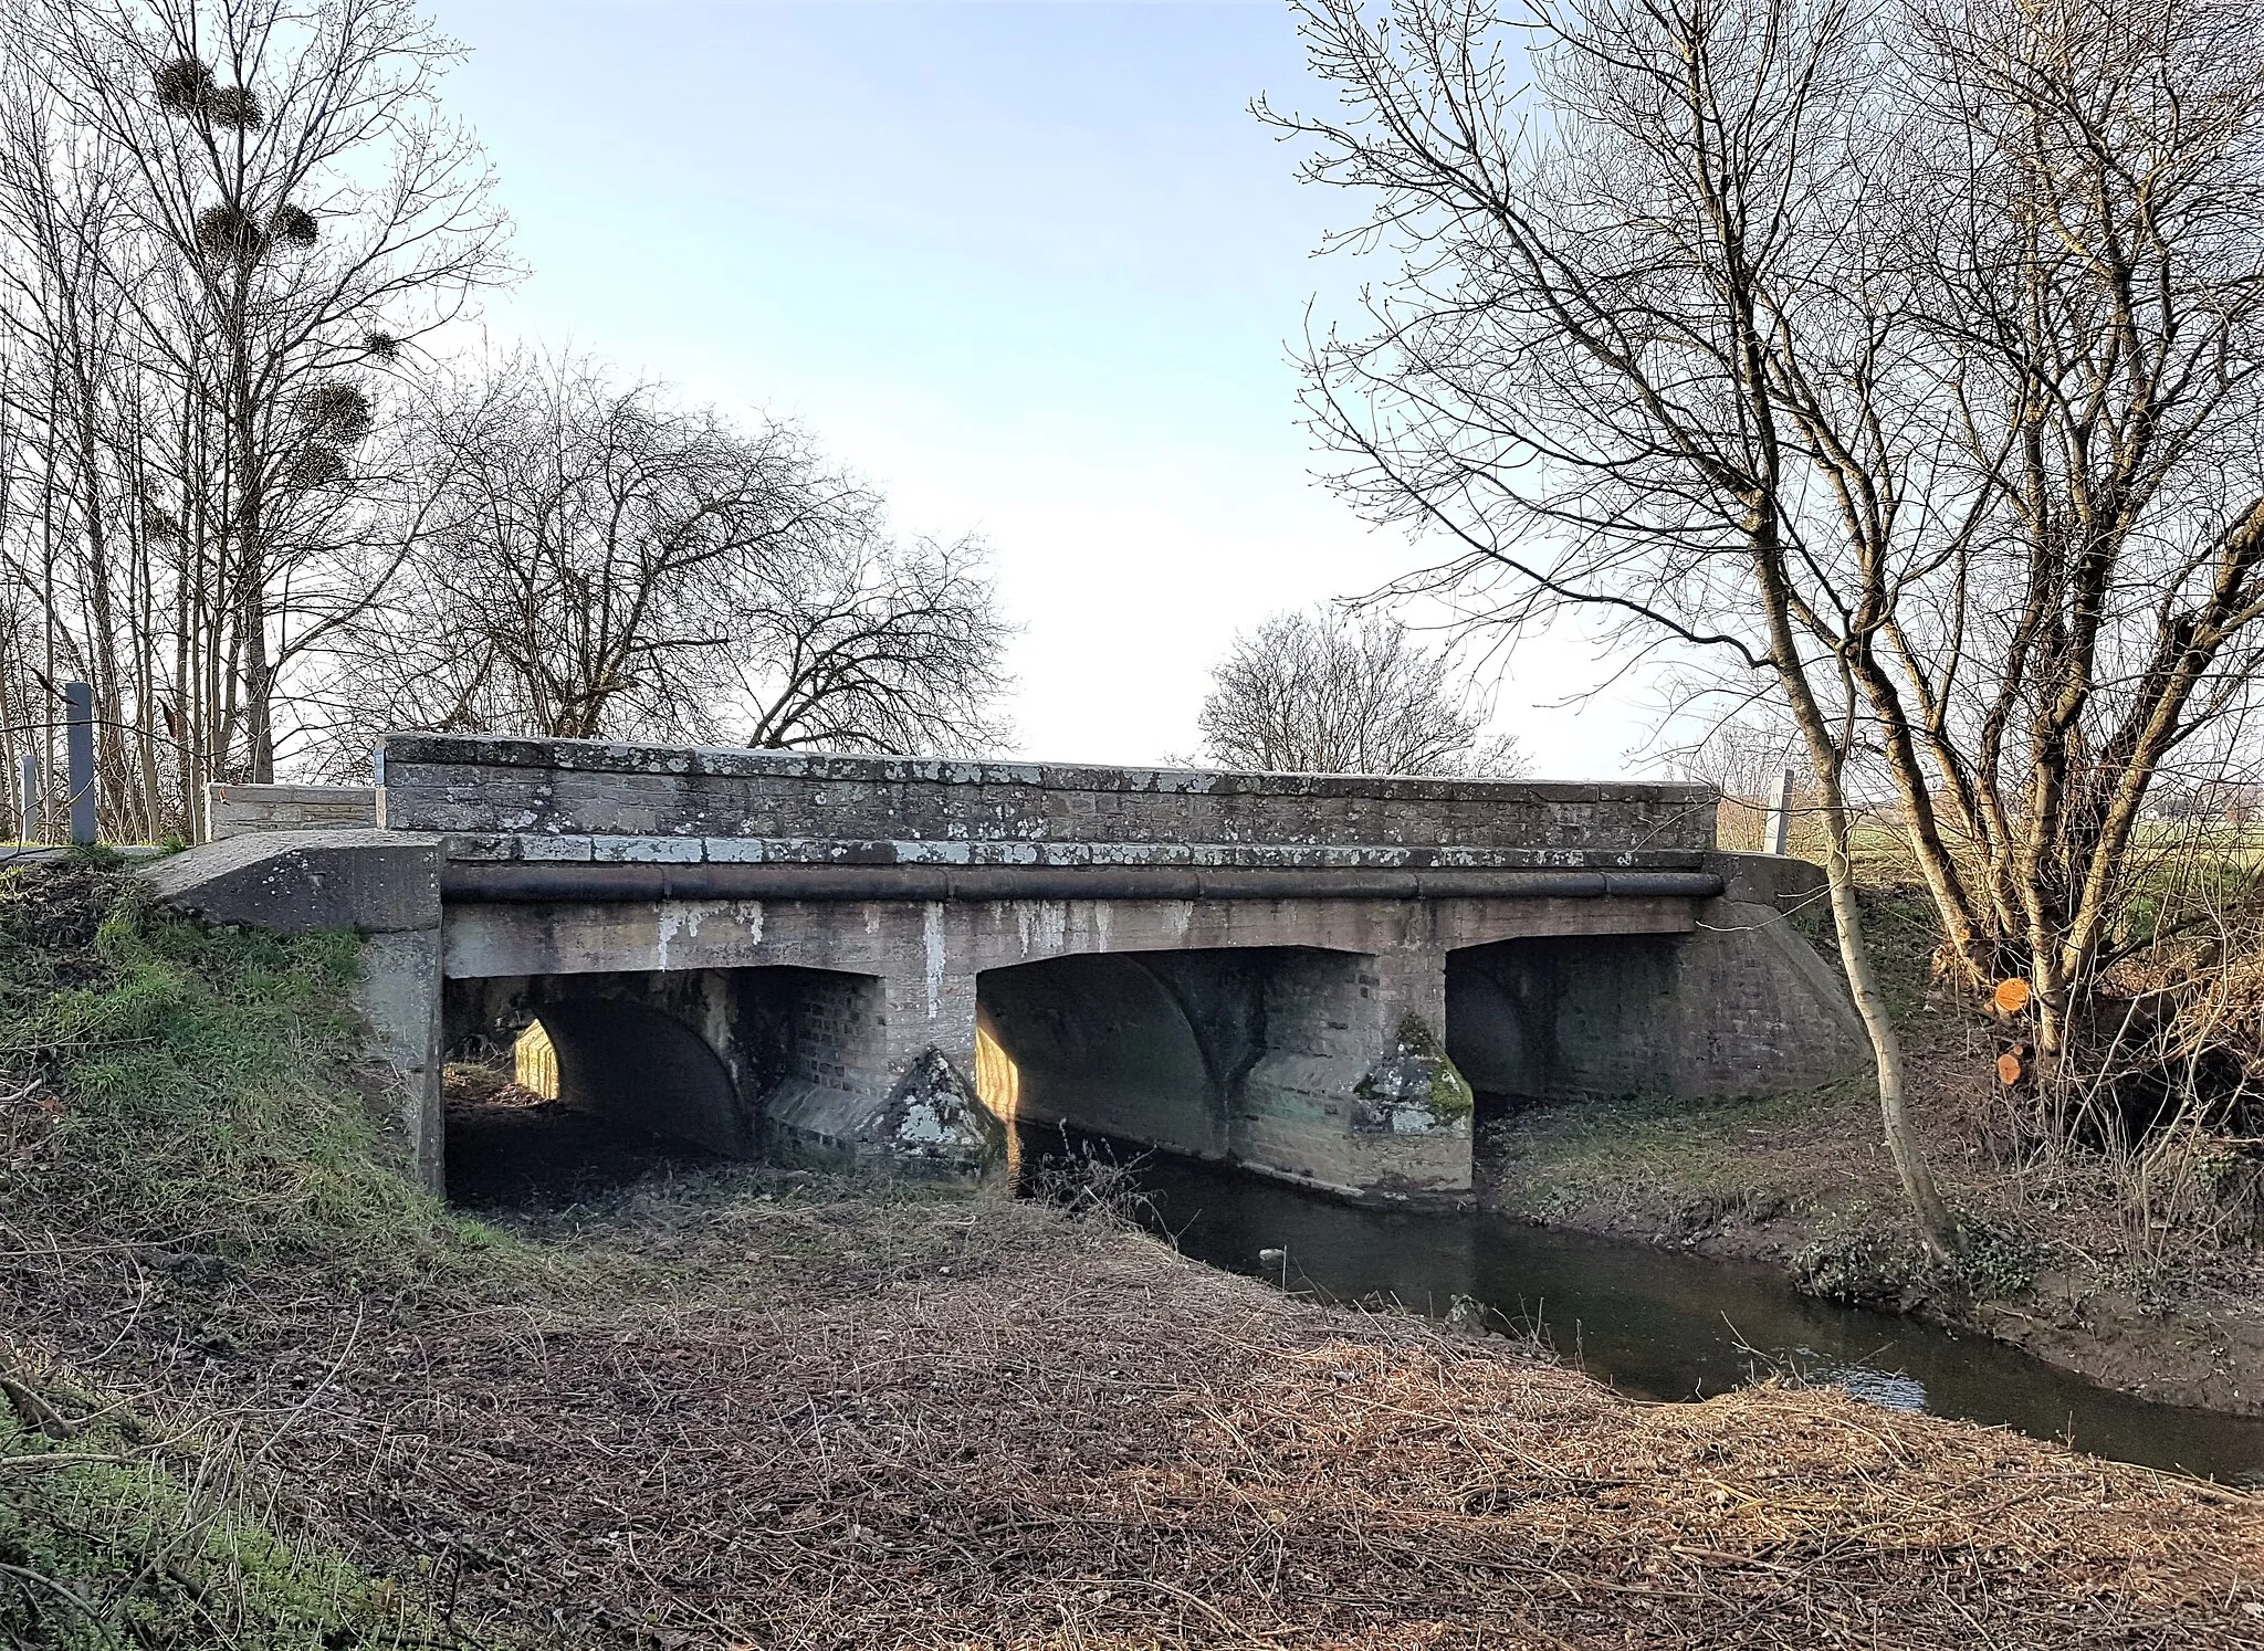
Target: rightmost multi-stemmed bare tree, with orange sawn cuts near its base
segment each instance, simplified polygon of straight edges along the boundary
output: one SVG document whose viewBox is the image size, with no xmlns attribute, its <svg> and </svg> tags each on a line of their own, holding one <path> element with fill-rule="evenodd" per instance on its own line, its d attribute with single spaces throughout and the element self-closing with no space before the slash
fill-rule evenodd
<svg viewBox="0 0 2264 1651">
<path fill-rule="evenodd" d="M 2248 0 L 1936 0 L 1906 45 L 1956 503 L 1861 684 L 1911 732 L 1956 956 L 2033 981 L 2047 1053 L 2121 951 L 2149 790 L 2216 765 L 2264 664 L 2259 27 Z"/>
</svg>

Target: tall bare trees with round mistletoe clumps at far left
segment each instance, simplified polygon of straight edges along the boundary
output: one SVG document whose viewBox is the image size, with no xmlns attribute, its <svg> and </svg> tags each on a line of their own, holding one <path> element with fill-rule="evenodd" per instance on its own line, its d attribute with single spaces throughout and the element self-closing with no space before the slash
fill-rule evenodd
<svg viewBox="0 0 2264 1651">
<path fill-rule="evenodd" d="M 0 550 L 72 575 L 41 600 L 113 732 L 113 827 L 192 829 L 206 779 L 274 777 L 294 673 L 383 587 L 369 435 L 417 340 L 509 274 L 505 220 L 437 113 L 455 48 L 405 0 L 0 18 L 27 437 Z"/>
</svg>

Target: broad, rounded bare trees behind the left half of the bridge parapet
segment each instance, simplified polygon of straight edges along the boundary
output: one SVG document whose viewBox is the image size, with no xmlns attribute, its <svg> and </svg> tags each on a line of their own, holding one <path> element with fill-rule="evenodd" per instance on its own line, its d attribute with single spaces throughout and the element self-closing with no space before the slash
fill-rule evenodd
<svg viewBox="0 0 2264 1651">
<path fill-rule="evenodd" d="M 437 387 L 405 437 L 405 566 L 342 627 L 333 770 L 383 727 L 969 750 L 1005 627 L 974 544 L 899 544 L 788 426 L 589 362 Z"/>
</svg>

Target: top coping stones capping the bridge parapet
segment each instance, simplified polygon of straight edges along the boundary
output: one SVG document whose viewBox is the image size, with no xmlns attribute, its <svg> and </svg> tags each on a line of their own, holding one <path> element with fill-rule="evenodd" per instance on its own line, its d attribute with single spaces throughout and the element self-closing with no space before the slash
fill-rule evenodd
<svg viewBox="0 0 2264 1651">
<path fill-rule="evenodd" d="M 530 741 L 498 734 L 385 734 L 378 738 L 378 784 L 387 765 L 555 768 L 604 775 L 715 775 L 731 779 L 801 779 L 940 786 L 1032 786 L 1039 790 L 1114 790 L 1266 797 L 1388 797 L 1404 802 L 1657 802 L 1707 804 L 1712 786 L 1678 781 L 1528 781 L 1415 779 L 1408 775 L 1259 775 L 1207 768 L 1109 768 L 1091 763 L 1001 763 L 944 756 L 849 756 L 758 752 L 697 745 L 623 745 L 614 741 Z"/>
</svg>

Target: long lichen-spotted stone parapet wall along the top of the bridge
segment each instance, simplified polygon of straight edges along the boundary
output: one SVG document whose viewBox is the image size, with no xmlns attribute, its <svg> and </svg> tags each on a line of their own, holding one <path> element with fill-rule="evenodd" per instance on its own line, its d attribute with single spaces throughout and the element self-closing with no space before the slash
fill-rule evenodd
<svg viewBox="0 0 2264 1651">
<path fill-rule="evenodd" d="M 833 845 L 1245 845 L 1494 852 L 1705 852 L 1709 786 L 1530 784 L 1374 775 L 958 763 L 684 750 L 480 734 L 378 743 L 380 822 L 394 831 L 528 838 Z M 677 849 L 713 856 L 713 847 Z M 598 858 L 595 847 L 589 858 Z"/>
</svg>

